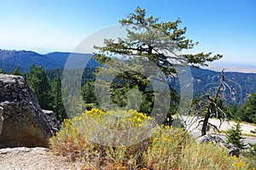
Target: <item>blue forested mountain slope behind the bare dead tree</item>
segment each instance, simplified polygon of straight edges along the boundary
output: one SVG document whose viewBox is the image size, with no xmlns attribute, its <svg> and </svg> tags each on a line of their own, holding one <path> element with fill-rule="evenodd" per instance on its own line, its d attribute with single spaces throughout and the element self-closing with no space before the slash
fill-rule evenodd
<svg viewBox="0 0 256 170">
<path fill-rule="evenodd" d="M 215 94 L 221 73 L 204 69 L 191 68 L 194 94 Z M 224 72 L 225 93 L 221 93 L 225 103 L 242 105 L 250 94 L 256 92 L 256 74 L 241 72 Z"/>
</svg>

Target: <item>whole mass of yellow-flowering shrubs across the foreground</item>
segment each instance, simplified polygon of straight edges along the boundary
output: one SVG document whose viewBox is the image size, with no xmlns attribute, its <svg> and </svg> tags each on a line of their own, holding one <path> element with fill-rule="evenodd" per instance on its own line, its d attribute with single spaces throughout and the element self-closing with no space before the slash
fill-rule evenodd
<svg viewBox="0 0 256 170">
<path fill-rule="evenodd" d="M 110 119 L 108 113 L 126 116 L 123 120 Z M 82 169 L 247 168 L 241 159 L 228 156 L 228 150 L 218 144 L 197 144 L 195 139 L 182 128 L 157 125 L 151 127 L 154 133 L 149 138 L 136 144 L 104 146 L 91 139 L 91 134 L 98 137 L 106 134 L 99 132 L 99 129 L 93 126 L 86 126 L 89 118 L 116 129 L 150 127 L 152 122 L 151 117 L 133 110 L 104 112 L 97 109 L 85 111 L 81 116 L 74 117 L 72 121 L 65 120 L 61 131 L 50 139 L 51 149 L 56 155 L 67 156 L 69 161 L 83 162 Z M 93 131 L 96 132 L 91 133 Z"/>
</svg>

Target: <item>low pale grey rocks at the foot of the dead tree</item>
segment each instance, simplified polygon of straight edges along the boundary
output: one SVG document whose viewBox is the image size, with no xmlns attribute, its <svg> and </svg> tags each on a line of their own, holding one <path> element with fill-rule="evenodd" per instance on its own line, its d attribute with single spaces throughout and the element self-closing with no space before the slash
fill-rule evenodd
<svg viewBox="0 0 256 170">
<path fill-rule="evenodd" d="M 203 142 L 212 142 L 215 144 L 219 144 L 221 146 L 224 146 L 228 148 L 230 156 L 237 156 L 239 157 L 239 148 L 236 147 L 234 144 L 227 144 L 224 139 L 219 138 L 217 135 L 214 134 L 206 134 L 204 136 L 201 136 L 197 139 L 198 143 L 203 143 Z"/>
</svg>

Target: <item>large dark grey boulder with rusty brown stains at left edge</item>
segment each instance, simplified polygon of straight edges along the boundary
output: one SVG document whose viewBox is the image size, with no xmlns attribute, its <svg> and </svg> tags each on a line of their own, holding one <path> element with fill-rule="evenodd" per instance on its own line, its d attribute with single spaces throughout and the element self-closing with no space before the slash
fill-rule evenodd
<svg viewBox="0 0 256 170">
<path fill-rule="evenodd" d="M 47 147 L 60 128 L 55 116 L 44 114 L 23 77 L 0 74 L 0 106 L 4 119 L 0 148 Z"/>
</svg>

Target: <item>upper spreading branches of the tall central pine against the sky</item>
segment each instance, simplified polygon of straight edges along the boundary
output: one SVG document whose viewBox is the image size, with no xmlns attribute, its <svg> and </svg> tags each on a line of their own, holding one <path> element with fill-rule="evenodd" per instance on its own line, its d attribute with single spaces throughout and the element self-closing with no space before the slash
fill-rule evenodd
<svg viewBox="0 0 256 170">
<path fill-rule="evenodd" d="M 173 71 L 171 69 L 173 59 L 177 59 L 184 64 L 207 65 L 207 62 L 222 57 L 220 54 L 212 56 L 212 53 L 203 52 L 180 54 L 175 57 L 163 53 L 163 51 L 173 52 L 174 50 L 181 51 L 182 49 L 194 48 L 198 44 L 198 42 L 193 42 L 185 37 L 187 28 L 179 28 L 181 22 L 180 19 L 173 22 L 163 22 L 154 16 L 146 17 L 146 10 L 137 7 L 135 13 L 129 14 L 127 19 L 119 20 L 121 26 L 127 28 L 127 37 L 119 37 L 117 42 L 113 39 L 105 39 L 104 47 L 96 47 L 102 52 L 97 54 L 97 59 L 106 61 L 106 55 L 103 55 L 105 52 L 145 55 L 160 66 L 166 74 L 170 74 Z"/>
</svg>

